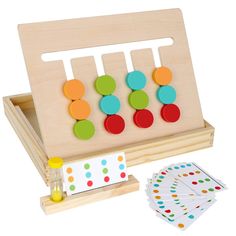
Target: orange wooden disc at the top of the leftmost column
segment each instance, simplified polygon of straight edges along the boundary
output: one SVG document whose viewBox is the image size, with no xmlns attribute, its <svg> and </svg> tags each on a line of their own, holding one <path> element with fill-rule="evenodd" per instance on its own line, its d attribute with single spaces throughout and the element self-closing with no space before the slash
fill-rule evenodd
<svg viewBox="0 0 236 236">
<path fill-rule="evenodd" d="M 63 92 L 67 98 L 77 100 L 84 96 L 85 88 L 81 81 L 72 79 L 64 83 Z"/>
</svg>

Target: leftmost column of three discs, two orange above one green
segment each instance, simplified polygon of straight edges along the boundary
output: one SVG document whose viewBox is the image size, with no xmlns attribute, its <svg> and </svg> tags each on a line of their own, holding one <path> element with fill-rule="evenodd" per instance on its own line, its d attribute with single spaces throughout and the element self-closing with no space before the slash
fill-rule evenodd
<svg viewBox="0 0 236 236">
<path fill-rule="evenodd" d="M 64 95 L 71 100 L 69 114 L 76 120 L 73 126 L 74 135 L 82 140 L 88 140 L 95 134 L 93 123 L 88 120 L 91 113 L 90 105 L 82 97 L 85 94 L 83 83 L 77 79 L 69 80 L 63 86 Z"/>
</svg>

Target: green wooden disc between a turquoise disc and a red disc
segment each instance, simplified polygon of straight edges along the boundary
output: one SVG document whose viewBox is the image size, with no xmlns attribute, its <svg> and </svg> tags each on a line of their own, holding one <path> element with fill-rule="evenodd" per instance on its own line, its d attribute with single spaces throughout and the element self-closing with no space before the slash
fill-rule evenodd
<svg viewBox="0 0 236 236">
<path fill-rule="evenodd" d="M 129 104 L 137 110 L 142 110 L 148 106 L 149 98 L 143 90 L 137 90 L 129 95 Z"/>
</svg>

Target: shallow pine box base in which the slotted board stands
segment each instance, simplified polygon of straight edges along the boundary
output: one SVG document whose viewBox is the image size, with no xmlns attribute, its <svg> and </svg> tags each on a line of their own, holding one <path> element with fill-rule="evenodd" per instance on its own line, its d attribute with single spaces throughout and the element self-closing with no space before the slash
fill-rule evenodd
<svg viewBox="0 0 236 236">
<path fill-rule="evenodd" d="M 4 97 L 4 108 L 12 127 L 15 129 L 21 142 L 25 146 L 31 160 L 45 183 L 49 183 L 47 161 L 48 156 L 44 151 L 41 134 L 38 126 L 37 116 L 31 94 L 22 94 Z M 174 156 L 206 147 L 213 144 L 214 128 L 207 122 L 205 127 L 194 129 L 162 138 L 150 139 L 141 143 L 119 146 L 104 150 L 102 153 L 91 153 L 88 150 L 85 156 L 73 156 L 64 159 L 70 162 L 78 159 L 90 158 L 106 153 L 124 151 L 127 166 L 133 166 Z"/>
</svg>

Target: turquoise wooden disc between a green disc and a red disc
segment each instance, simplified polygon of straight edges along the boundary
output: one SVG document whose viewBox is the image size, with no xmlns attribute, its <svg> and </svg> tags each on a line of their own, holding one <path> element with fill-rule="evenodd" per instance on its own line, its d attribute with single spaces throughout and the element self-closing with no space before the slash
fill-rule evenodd
<svg viewBox="0 0 236 236">
<path fill-rule="evenodd" d="M 114 95 L 104 96 L 99 102 L 99 107 L 105 114 L 114 115 L 120 110 L 120 101 Z"/>
</svg>

